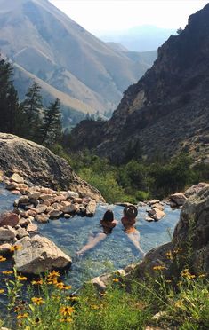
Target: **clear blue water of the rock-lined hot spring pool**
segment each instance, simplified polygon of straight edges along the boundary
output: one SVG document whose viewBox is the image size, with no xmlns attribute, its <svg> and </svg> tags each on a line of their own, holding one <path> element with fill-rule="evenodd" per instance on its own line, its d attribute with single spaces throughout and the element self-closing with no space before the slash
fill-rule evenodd
<svg viewBox="0 0 209 330">
<path fill-rule="evenodd" d="M 4 185 L 0 185 L 0 212 L 12 209 L 12 202 L 16 198 L 17 196 L 5 191 Z M 84 280 L 141 260 L 141 255 L 123 231 L 120 221 L 113 232 L 107 235 L 106 240 L 100 242 L 96 248 L 88 251 L 83 257 L 76 256 L 76 251 L 86 244 L 91 232 L 102 232 L 99 222 L 108 208 L 114 211 L 117 220 L 121 219 L 122 207 L 100 204 L 95 216 L 91 218 L 74 216 L 70 219 L 52 220 L 49 224 L 39 224 L 41 234 L 54 241 L 61 250 L 72 257 L 72 267 L 68 271 L 66 282 L 73 288 L 79 287 Z M 141 248 L 145 252 L 170 240 L 169 232 L 173 233 L 180 210 L 172 210 L 165 206 L 165 214 L 161 221 L 148 223 L 144 219 L 147 216 L 146 208 L 139 208 L 136 228 L 141 233 Z M 4 263 L 4 269 L 6 265 L 10 266 L 9 263 Z M 3 270 L 3 264 L 0 264 L 0 271 L 1 269 Z"/>
</svg>

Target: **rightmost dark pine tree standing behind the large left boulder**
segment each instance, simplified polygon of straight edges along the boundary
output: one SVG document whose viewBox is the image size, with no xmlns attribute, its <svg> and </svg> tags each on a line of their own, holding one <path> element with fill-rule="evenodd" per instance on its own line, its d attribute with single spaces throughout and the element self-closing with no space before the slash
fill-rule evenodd
<svg viewBox="0 0 209 330">
<path fill-rule="evenodd" d="M 54 102 L 44 109 L 44 126 L 42 133 L 43 145 L 54 145 L 61 138 L 61 114 L 60 100 L 56 98 Z"/>
</svg>

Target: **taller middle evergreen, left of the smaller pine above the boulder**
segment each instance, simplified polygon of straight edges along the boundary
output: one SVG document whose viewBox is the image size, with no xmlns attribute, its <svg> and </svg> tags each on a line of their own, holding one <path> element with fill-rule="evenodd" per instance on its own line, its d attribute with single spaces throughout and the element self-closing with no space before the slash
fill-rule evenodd
<svg viewBox="0 0 209 330">
<path fill-rule="evenodd" d="M 37 142 L 42 125 L 40 112 L 43 108 L 40 90 L 41 87 L 34 82 L 32 86 L 28 88 L 26 99 L 21 104 L 26 122 L 25 138 L 31 138 Z"/>
</svg>

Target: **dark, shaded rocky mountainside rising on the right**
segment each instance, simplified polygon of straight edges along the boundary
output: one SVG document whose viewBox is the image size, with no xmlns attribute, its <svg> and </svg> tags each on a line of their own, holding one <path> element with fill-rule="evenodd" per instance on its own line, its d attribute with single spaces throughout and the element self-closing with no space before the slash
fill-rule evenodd
<svg viewBox="0 0 209 330">
<path fill-rule="evenodd" d="M 81 122 L 75 148 L 94 148 L 112 161 L 189 151 L 209 162 L 209 4 L 180 35 L 158 49 L 153 67 L 130 86 L 108 122 Z"/>
</svg>

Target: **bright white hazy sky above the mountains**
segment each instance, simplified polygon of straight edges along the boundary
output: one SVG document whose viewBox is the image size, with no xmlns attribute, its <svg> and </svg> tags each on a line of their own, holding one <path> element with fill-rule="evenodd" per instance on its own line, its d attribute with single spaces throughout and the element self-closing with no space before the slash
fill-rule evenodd
<svg viewBox="0 0 209 330">
<path fill-rule="evenodd" d="M 76 23 L 100 35 L 141 25 L 185 27 L 205 0 L 50 0 Z"/>
</svg>

